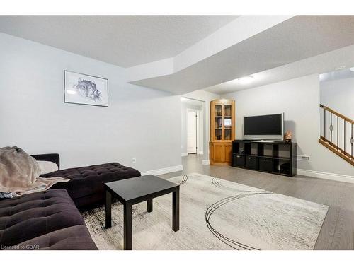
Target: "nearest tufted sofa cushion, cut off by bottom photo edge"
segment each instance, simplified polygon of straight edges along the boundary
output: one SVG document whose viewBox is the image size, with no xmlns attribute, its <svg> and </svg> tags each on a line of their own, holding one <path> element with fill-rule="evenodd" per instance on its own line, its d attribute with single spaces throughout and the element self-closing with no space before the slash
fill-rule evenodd
<svg viewBox="0 0 354 265">
<path fill-rule="evenodd" d="M 14 250 L 96 250 L 89 230 L 85 225 L 75 225 L 50 232 L 40 237 L 22 242 L 10 249 Z"/>
</svg>

